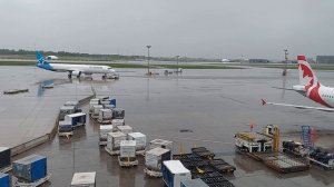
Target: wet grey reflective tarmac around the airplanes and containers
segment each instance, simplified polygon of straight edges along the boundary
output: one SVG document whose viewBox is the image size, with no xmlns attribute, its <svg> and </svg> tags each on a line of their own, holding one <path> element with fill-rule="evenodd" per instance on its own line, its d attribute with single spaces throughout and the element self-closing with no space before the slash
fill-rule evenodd
<svg viewBox="0 0 334 187">
<path fill-rule="evenodd" d="M 2 145 L 3 142 L 14 141 L 14 138 L 11 138 L 14 136 L 24 139 L 16 134 L 16 128 L 10 127 L 11 124 L 6 122 L 10 115 L 16 117 L 16 110 L 9 110 L 13 102 L 16 106 L 28 106 L 29 101 L 26 104 L 26 100 L 30 97 L 36 100 L 45 99 L 43 105 L 49 100 L 57 100 L 50 104 L 53 109 L 47 109 L 40 104 L 43 110 L 50 110 L 48 112 L 52 114 L 52 110 L 57 110 L 63 100 L 87 96 L 90 94 L 90 86 L 94 86 L 98 96 L 117 98 L 117 106 L 126 110 L 126 124 L 132 126 L 136 131 L 147 135 L 148 140 L 155 138 L 173 140 L 174 152 L 178 152 L 179 147 L 187 152 L 193 146 L 205 146 L 216 152 L 216 157 L 235 165 L 237 167 L 235 174 L 226 176 L 235 186 L 334 186 L 333 171 L 312 167 L 308 171 L 282 175 L 234 151 L 234 134 L 249 130 L 249 124 L 255 125 L 255 130 L 262 130 L 268 124 L 277 125 L 284 139 L 297 140 L 299 140 L 301 126 L 314 126 L 318 130 L 315 144 L 333 146 L 332 114 L 262 106 L 262 98 L 276 102 L 317 106 L 294 91 L 272 88 L 284 86 L 291 88 L 292 85 L 297 83 L 296 70 L 291 70 L 284 80 L 279 69 L 185 70 L 178 76 L 164 76 L 163 70 L 156 70 L 161 71 L 160 76 L 151 78 L 144 76 L 145 70 L 125 69 L 121 70 L 119 80 L 105 81 L 94 76 L 92 81 L 73 79 L 68 82 L 66 73 L 48 72 L 32 67 L 6 68 L 1 73 L 6 79 L 0 81 L 3 89 L 12 89 L 12 87 L 33 89 L 38 87 L 38 82 L 45 80 L 61 83 L 46 90 L 40 97 L 36 97 L 37 92 L 29 91 L 27 95 L 10 96 L 11 100 L 7 101 L 1 95 L 1 104 L 4 100 L 0 112 L 1 128 L 8 129 L 7 134 L 11 135 L 7 138 L 1 137 L 1 146 L 6 146 Z M 334 86 L 333 71 L 316 73 L 323 85 Z M 84 107 L 84 110 L 87 111 L 88 107 Z M 26 117 L 26 120 L 35 118 L 39 111 L 42 110 L 32 112 L 31 116 Z M 49 120 L 51 122 L 55 119 Z M 30 130 L 29 127 L 27 128 Z M 33 135 L 33 130 L 31 131 L 30 134 Z M 98 187 L 163 186 L 161 179 L 144 175 L 143 157 L 138 157 L 138 167 L 120 168 L 117 158 L 109 156 L 98 146 L 98 125 L 92 121 L 84 128 L 78 128 L 71 139 L 56 137 L 52 141 L 14 159 L 32 152 L 48 156 L 48 170 L 52 177 L 45 186 L 69 186 L 72 173 L 92 170 L 97 171 Z"/>
</svg>

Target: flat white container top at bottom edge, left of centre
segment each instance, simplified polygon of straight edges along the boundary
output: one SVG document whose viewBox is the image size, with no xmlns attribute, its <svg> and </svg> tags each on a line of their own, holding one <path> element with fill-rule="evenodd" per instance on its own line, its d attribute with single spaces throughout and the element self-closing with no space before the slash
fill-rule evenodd
<svg viewBox="0 0 334 187">
<path fill-rule="evenodd" d="M 96 187 L 96 171 L 76 173 L 71 181 L 71 187 Z"/>
</svg>

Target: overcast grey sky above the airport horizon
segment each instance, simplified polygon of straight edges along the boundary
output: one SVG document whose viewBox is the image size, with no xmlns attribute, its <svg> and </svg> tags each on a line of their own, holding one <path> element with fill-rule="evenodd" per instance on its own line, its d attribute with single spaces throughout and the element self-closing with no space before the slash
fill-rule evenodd
<svg viewBox="0 0 334 187">
<path fill-rule="evenodd" d="M 0 48 L 283 59 L 334 55 L 333 0 L 0 0 Z"/>
</svg>

